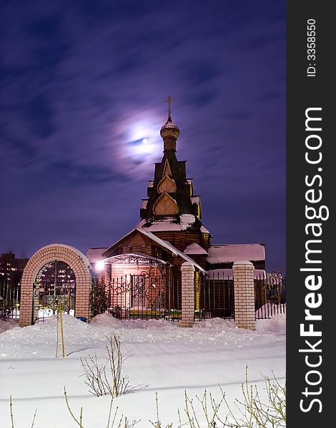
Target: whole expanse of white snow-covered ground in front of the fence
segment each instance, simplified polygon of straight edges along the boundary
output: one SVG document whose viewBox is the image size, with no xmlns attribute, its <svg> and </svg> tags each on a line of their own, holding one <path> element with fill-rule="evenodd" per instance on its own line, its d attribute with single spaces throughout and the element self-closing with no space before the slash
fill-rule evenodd
<svg viewBox="0 0 336 428">
<path fill-rule="evenodd" d="M 0 332 L 4 330 L 0 325 Z M 155 420 L 155 392 L 159 397 L 162 427 L 178 420 L 184 407 L 184 390 L 189 397 L 201 396 L 204 388 L 219 397 L 221 384 L 229 400 L 241 398 L 248 365 L 249 381 L 264 386 L 262 374 L 285 377 L 285 315 L 257 321 L 257 331 L 241 330 L 232 322 L 214 318 L 183 329 L 164 320 L 120 321 L 99 315 L 90 324 L 64 315 L 66 358 L 56 352 L 57 322 L 54 317 L 29 327 L 7 325 L 0 334 L 0 427 L 11 428 L 9 395 L 13 400 L 15 428 L 72 428 L 76 423 L 66 409 L 64 385 L 71 408 L 79 415 L 83 407 L 85 428 L 107 426 L 109 397 L 89 393 L 80 357 L 97 353 L 103 361 L 106 336 L 120 335 L 124 352 L 133 357 L 124 363 L 124 374 L 135 392 L 118 397 L 114 405 L 128 419 L 141 419 L 137 427 L 151 427 Z M 1 330 L 2 328 L 2 330 Z M 183 410 L 182 410 L 183 414 Z"/>
</svg>

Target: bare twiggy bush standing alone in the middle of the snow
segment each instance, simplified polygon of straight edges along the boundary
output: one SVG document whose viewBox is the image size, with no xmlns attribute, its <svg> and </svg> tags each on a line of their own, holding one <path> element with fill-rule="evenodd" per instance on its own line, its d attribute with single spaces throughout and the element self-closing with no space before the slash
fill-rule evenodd
<svg viewBox="0 0 336 428">
<path fill-rule="evenodd" d="M 118 397 L 122 394 L 127 394 L 133 390 L 129 386 L 127 376 L 123 374 L 123 364 L 127 358 L 132 355 L 127 352 L 123 354 L 120 344 L 119 335 L 112 332 L 112 335 L 107 336 L 108 345 L 107 361 L 100 363 L 97 354 L 94 357 L 89 355 L 87 358 L 81 358 L 81 367 L 83 367 L 85 384 L 89 387 L 89 392 L 100 397 L 101 395 L 111 394 L 112 397 Z"/>
</svg>

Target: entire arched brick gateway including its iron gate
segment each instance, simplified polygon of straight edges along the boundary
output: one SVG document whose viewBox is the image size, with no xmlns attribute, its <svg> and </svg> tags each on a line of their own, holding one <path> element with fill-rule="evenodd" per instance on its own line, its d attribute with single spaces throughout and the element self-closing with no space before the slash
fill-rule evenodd
<svg viewBox="0 0 336 428">
<path fill-rule="evenodd" d="M 41 248 L 24 268 L 19 325 L 24 327 L 54 315 L 60 303 L 66 313 L 89 320 L 92 281 L 89 260 L 76 248 L 64 244 Z"/>
</svg>

